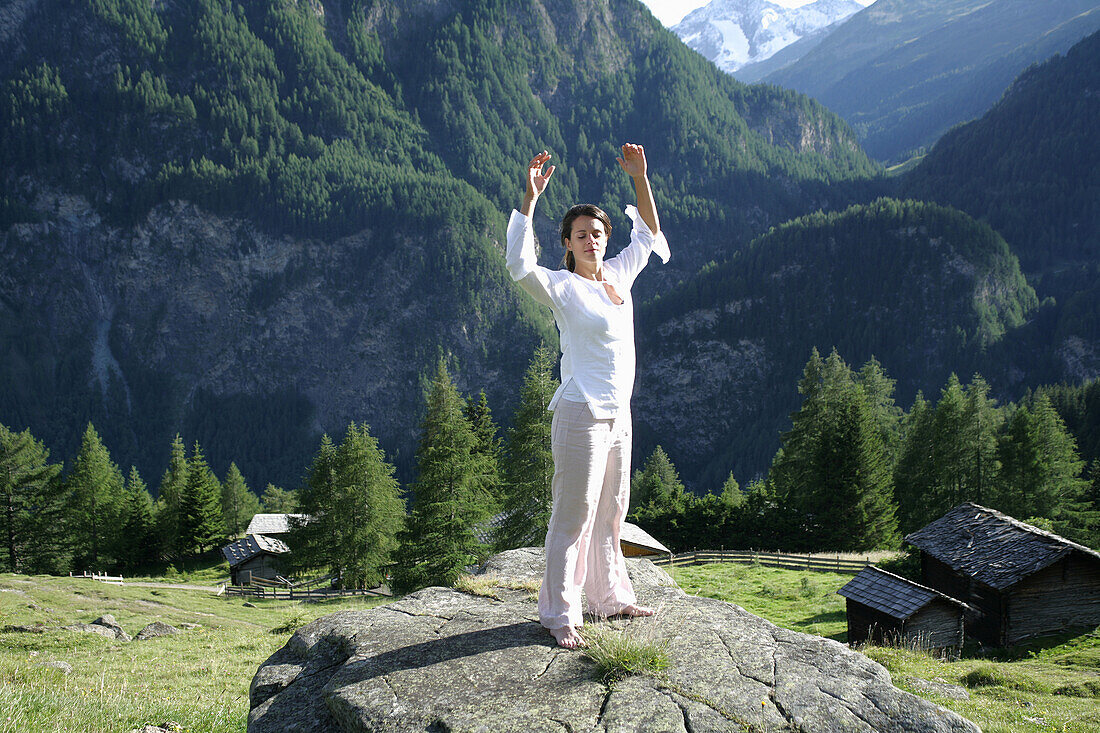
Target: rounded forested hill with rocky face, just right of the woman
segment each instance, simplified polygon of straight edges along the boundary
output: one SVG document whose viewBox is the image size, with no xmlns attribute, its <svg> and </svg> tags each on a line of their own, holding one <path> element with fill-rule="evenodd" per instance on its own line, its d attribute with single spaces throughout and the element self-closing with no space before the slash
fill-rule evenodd
<svg viewBox="0 0 1100 733">
<path fill-rule="evenodd" d="M 722 485 L 767 470 L 814 347 L 872 357 L 908 408 L 1038 306 L 1004 240 L 952 208 L 880 199 L 814 214 L 638 314 L 636 450 L 660 444 L 685 481 Z"/>
</svg>

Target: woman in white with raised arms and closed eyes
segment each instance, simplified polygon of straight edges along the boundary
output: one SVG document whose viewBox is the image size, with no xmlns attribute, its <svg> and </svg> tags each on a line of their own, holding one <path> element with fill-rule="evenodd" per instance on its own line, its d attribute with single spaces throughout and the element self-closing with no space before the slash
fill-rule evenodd
<svg viewBox="0 0 1100 733">
<path fill-rule="evenodd" d="M 637 208 L 630 243 L 604 261 L 612 233 L 607 215 L 574 206 L 561 222 L 564 270 L 538 264 L 531 215 L 554 166 L 543 151 L 527 166 L 527 192 L 508 221 L 508 272 L 548 306 L 561 333 L 561 386 L 550 401 L 554 461 L 553 506 L 547 530 L 547 568 L 539 620 L 558 644 L 583 645 L 581 589 L 601 616 L 648 616 L 637 604 L 619 548 L 630 503 L 630 393 L 634 390 L 634 304 L 630 286 L 656 251 L 668 262 L 641 145 L 623 145 L 617 158 L 634 180 Z"/>
</svg>

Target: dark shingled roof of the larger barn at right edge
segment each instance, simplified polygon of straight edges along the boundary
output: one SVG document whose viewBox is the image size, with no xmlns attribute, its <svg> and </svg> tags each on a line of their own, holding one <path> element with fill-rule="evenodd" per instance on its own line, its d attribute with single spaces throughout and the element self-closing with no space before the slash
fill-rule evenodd
<svg viewBox="0 0 1100 733">
<path fill-rule="evenodd" d="M 953 570 L 1004 590 L 1070 553 L 1100 553 L 974 502 L 905 537 Z"/>
</svg>

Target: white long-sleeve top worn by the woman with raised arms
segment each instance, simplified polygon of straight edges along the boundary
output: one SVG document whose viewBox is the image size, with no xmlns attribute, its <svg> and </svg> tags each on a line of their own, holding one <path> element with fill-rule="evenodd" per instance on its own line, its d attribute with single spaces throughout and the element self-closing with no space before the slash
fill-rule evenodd
<svg viewBox="0 0 1100 733">
<path fill-rule="evenodd" d="M 531 219 L 513 209 L 508 219 L 507 265 L 512 278 L 553 313 L 561 335 L 561 386 L 550 401 L 553 409 L 572 386 L 584 395 L 593 417 L 606 419 L 629 409 L 634 392 L 634 300 L 630 286 L 649 262 L 650 252 L 669 261 L 669 243 L 654 237 L 634 206 L 626 207 L 634 227 L 630 243 L 604 261 L 604 280 L 622 305 L 615 305 L 603 284 L 569 270 L 549 270 L 538 263 Z"/>
</svg>

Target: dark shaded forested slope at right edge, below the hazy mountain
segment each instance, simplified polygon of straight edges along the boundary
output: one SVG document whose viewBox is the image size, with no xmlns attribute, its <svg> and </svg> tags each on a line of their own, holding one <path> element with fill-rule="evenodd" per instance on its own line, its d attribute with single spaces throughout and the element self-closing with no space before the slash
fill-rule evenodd
<svg viewBox="0 0 1100 733">
<path fill-rule="evenodd" d="M 1100 32 L 1021 74 L 981 119 L 945 134 L 902 189 L 986 219 L 1025 272 L 1057 280 L 1066 266 L 1100 264 L 1098 120 Z"/>
</svg>

